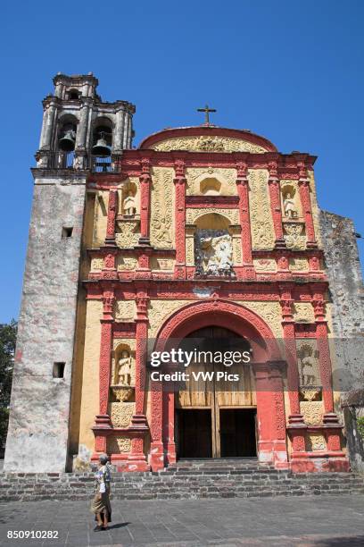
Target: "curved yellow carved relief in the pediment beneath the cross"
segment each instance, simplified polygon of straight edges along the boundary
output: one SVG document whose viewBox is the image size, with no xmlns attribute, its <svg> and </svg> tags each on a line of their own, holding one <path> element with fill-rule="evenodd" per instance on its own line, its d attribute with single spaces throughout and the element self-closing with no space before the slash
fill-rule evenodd
<svg viewBox="0 0 364 547">
<path fill-rule="evenodd" d="M 173 137 L 152 145 L 154 150 L 191 150 L 201 152 L 251 152 L 263 154 L 267 150 L 259 145 L 231 137 Z"/>
</svg>

